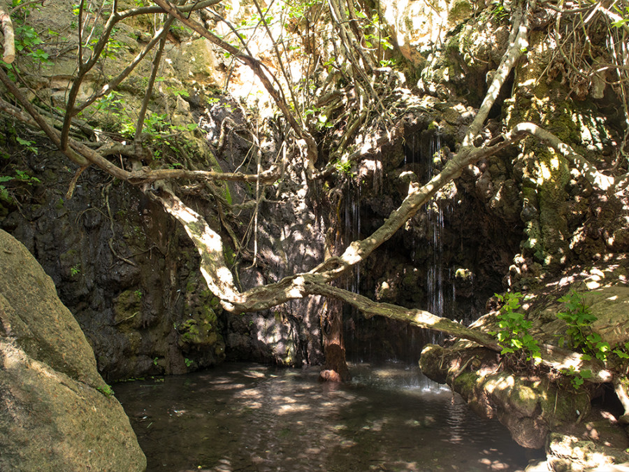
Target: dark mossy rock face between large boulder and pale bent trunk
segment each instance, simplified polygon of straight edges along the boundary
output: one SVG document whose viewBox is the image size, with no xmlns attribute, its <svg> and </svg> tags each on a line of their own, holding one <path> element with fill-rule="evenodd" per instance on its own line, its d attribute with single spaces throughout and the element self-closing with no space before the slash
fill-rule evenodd
<svg viewBox="0 0 629 472">
<path fill-rule="evenodd" d="M 33 204 L 0 224 L 52 277 L 103 376 L 183 373 L 221 362 L 221 310 L 182 229 L 137 189 L 92 169 L 68 200 L 71 174 L 64 171 L 49 165 L 36 173 L 43 185 Z"/>
</svg>

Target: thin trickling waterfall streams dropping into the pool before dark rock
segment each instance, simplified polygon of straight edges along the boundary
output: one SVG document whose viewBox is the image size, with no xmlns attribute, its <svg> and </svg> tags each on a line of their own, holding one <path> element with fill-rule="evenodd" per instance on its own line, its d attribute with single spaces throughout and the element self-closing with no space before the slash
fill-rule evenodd
<svg viewBox="0 0 629 472">
<path fill-rule="evenodd" d="M 440 136 L 428 130 L 421 134 L 409 134 L 405 146 L 405 157 L 400 162 L 400 171 L 407 175 L 413 173 L 421 183 L 426 183 L 440 171 Z M 366 188 L 363 187 L 363 192 Z M 377 301 L 382 301 L 378 299 L 382 293 L 384 301 L 389 301 L 386 299 L 386 290 L 390 289 L 389 293 L 394 298 L 389 302 L 410 308 L 423 308 L 441 317 L 454 318 L 456 267 L 451 263 L 450 225 L 454 213 L 451 202 L 455 195 L 454 185 L 442 189 L 411 220 L 409 226 L 396 235 L 396 239 L 379 249 L 380 259 L 377 262 L 372 260 L 362 266 L 363 271 L 368 267 L 369 273 L 361 274 L 359 264 L 354 266 L 352 273 L 345 279 L 345 288 L 354 293 L 375 296 Z M 387 199 L 389 195 L 377 195 L 376 191 L 363 196 L 361 185 L 352 180 L 343 197 L 339 215 L 343 220 L 343 245 L 347 246 L 364 236 L 362 232 L 365 229 L 361 227 L 361 223 L 370 228 L 373 220 L 386 217 L 384 214 L 373 213 L 373 209 L 386 208 L 379 205 L 378 199 Z M 361 217 L 364 222 L 361 222 Z M 382 259 L 383 256 L 385 259 Z M 387 264 L 388 268 L 383 270 L 383 266 Z M 396 269 L 398 267 L 400 271 Z M 372 269 L 377 269 L 377 272 L 374 273 Z M 387 285 L 384 292 L 379 292 L 383 284 L 387 283 L 391 285 Z M 416 362 L 426 343 L 438 343 L 441 339 L 440 334 L 435 331 L 396 324 L 386 318 L 373 317 L 366 320 L 350 306 L 344 308 L 344 337 L 347 359 L 352 362 Z"/>
</svg>

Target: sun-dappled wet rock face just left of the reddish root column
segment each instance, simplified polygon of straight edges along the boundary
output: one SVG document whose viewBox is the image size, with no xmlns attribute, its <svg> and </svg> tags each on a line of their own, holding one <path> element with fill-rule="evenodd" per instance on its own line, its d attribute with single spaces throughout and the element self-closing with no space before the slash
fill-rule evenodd
<svg viewBox="0 0 629 472">
<path fill-rule="evenodd" d="M 317 213 L 304 198 L 305 189 L 289 185 L 278 186 L 260 206 L 256 265 L 252 259 L 241 262 L 243 287 L 277 283 L 324 259 L 322 210 Z M 324 299 L 310 296 L 259 313 L 229 315 L 227 358 L 288 366 L 321 364 L 319 317 L 325 310 Z"/>
</svg>

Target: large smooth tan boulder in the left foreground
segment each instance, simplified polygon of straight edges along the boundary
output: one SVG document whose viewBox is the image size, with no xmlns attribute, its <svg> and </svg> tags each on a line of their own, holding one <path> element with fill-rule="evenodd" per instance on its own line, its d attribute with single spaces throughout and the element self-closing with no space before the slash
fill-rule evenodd
<svg viewBox="0 0 629 472">
<path fill-rule="evenodd" d="M 110 393 L 52 280 L 0 230 L 0 470 L 144 471 Z"/>
</svg>

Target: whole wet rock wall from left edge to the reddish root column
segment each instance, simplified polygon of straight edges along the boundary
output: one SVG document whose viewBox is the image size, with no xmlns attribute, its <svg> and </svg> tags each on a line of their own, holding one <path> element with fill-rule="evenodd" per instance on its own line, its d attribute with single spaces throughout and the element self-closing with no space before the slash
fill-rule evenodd
<svg viewBox="0 0 629 472">
<path fill-rule="evenodd" d="M 211 115 L 201 116 L 199 97 L 188 100 L 201 123 L 221 122 L 227 114 L 243 123 L 235 106 L 231 111 L 215 106 Z M 3 124 L 10 155 L 0 171 L 22 169 L 40 182 L 8 185 L 13 201 L 1 202 L 0 227 L 24 243 L 52 277 L 107 380 L 184 373 L 224 359 L 288 366 L 323 362 L 320 297 L 260 313 L 225 313 L 205 285 L 198 253 L 185 231 L 140 189 L 87 169 L 68 199 L 78 169 L 45 141 L 36 143 L 37 154 L 20 148 L 15 136 L 24 131 Z M 217 157 L 188 152 L 187 164 L 233 171 L 251 154 L 249 136 L 242 134 L 233 133 Z M 264 159 L 266 154 L 275 157 L 274 146 L 264 150 Z M 255 163 L 245 162 L 241 170 L 248 166 Z M 210 192 L 203 185 L 182 185 L 180 194 L 222 234 L 226 259 L 234 264 L 241 286 L 252 287 L 308 270 L 321 258 L 324 223 L 300 189 L 290 179 L 267 189 L 255 236 L 255 266 L 254 236 L 247 239 L 253 211 L 241 208 L 221 217 L 218 210 L 220 201 L 239 204 L 254 198 L 252 186 L 224 184 Z M 238 244 L 245 241 L 240 251 L 227 225 Z"/>
</svg>

